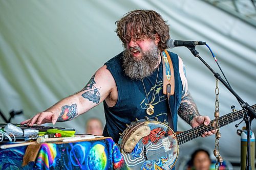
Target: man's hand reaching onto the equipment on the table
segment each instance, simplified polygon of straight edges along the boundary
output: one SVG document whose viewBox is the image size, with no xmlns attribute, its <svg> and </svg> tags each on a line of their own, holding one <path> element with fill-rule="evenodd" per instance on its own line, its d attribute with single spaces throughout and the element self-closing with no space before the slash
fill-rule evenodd
<svg viewBox="0 0 256 170">
<path fill-rule="evenodd" d="M 32 118 L 25 120 L 20 123 L 22 125 L 27 124 L 33 126 L 34 124 L 40 125 L 45 123 L 52 123 L 53 125 L 57 122 L 58 115 L 52 112 L 41 112 L 34 115 Z"/>
</svg>

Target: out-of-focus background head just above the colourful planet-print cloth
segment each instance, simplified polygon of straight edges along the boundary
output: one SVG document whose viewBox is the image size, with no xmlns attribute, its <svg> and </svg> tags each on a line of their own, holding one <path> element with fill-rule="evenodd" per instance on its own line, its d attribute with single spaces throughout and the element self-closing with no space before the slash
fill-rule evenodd
<svg viewBox="0 0 256 170">
<path fill-rule="evenodd" d="M 93 117 L 86 122 L 86 133 L 101 136 L 103 132 L 103 125 L 100 119 Z"/>
</svg>

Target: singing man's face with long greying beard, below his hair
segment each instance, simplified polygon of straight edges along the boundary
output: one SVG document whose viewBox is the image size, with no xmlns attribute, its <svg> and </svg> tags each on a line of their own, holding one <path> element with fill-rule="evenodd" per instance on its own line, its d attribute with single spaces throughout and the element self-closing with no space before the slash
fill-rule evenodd
<svg viewBox="0 0 256 170">
<path fill-rule="evenodd" d="M 155 40 L 142 38 L 130 40 L 123 52 L 123 68 L 125 75 L 131 79 L 143 79 L 153 74 L 160 61 L 158 50 L 159 38 Z"/>
</svg>

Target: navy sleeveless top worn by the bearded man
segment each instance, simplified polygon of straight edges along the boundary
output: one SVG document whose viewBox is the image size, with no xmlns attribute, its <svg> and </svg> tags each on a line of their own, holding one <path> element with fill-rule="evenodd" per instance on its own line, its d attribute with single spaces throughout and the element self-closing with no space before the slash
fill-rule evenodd
<svg viewBox="0 0 256 170">
<path fill-rule="evenodd" d="M 182 95 L 182 82 L 179 73 L 179 59 L 177 54 L 168 52 L 172 59 L 174 66 L 175 75 L 175 94 L 169 98 L 170 108 L 172 111 L 174 131 L 177 131 L 177 111 L 181 103 Z M 104 127 L 103 135 L 110 136 L 117 143 L 120 138 L 119 133 L 122 133 L 126 124 L 130 125 L 131 122 L 135 122 L 135 119 L 144 119 L 145 116 L 149 118 L 159 118 L 161 122 L 168 122 L 167 109 L 168 100 L 167 95 L 163 94 L 163 67 L 162 61 L 159 65 L 159 74 L 157 84 L 155 87 L 154 101 L 154 114 L 148 115 L 147 109 L 147 98 L 145 90 L 141 80 L 132 80 L 125 76 L 122 68 L 122 53 L 110 59 L 105 63 L 107 69 L 110 70 L 114 80 L 116 82 L 118 99 L 116 105 L 108 107 L 105 101 L 103 101 L 104 113 L 106 119 L 106 125 Z M 153 98 L 154 86 L 157 78 L 157 69 L 153 72 L 150 77 L 144 78 L 143 82 L 145 85 L 148 100 L 151 102 Z M 173 73 L 171 73 L 173 74 Z"/>
</svg>

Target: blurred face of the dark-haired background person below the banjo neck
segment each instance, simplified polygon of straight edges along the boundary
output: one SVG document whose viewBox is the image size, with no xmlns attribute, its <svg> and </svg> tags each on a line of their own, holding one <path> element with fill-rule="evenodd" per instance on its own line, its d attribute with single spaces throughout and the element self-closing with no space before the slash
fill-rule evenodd
<svg viewBox="0 0 256 170">
<path fill-rule="evenodd" d="M 205 152 L 199 152 L 195 156 L 193 163 L 196 170 L 209 170 L 211 161 Z"/>
</svg>

